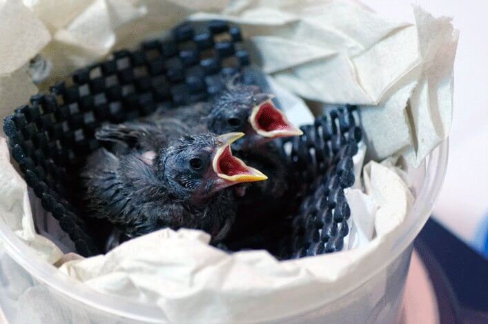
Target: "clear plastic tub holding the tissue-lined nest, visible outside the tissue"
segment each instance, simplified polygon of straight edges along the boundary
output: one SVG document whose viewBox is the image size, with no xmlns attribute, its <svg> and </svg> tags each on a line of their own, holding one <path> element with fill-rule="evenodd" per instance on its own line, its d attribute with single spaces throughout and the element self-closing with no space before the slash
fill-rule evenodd
<svg viewBox="0 0 488 324">
<path fill-rule="evenodd" d="M 320 307 L 273 323 L 394 323 L 409 268 L 413 240 L 429 218 L 447 168 L 448 143 L 433 150 L 416 170 L 416 201 L 405 219 L 404 232 L 381 264 L 367 276 Z M 159 308 L 107 296 L 38 261 L 30 248 L 0 220 L 0 305 L 12 323 L 164 323 Z M 0 243 L 1 250 L 1 243 Z M 252 312 L 253 310 L 249 310 Z"/>
</svg>

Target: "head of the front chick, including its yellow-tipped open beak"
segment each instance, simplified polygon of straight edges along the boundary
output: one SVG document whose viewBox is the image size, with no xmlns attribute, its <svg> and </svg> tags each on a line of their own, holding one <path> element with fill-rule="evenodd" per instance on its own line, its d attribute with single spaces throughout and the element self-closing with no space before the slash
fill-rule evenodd
<svg viewBox="0 0 488 324">
<path fill-rule="evenodd" d="M 197 201 L 237 183 L 266 180 L 262 172 L 232 155 L 231 143 L 242 136 L 239 132 L 184 136 L 161 152 L 159 170 L 177 192 Z"/>
</svg>

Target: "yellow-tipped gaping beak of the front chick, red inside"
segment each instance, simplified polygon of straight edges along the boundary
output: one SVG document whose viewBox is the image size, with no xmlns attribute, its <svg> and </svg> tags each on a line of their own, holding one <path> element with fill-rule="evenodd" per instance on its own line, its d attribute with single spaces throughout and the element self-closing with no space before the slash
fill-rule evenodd
<svg viewBox="0 0 488 324">
<path fill-rule="evenodd" d="M 260 170 L 251 168 L 241 159 L 232 155 L 231 144 L 244 136 L 244 133 L 228 133 L 220 135 L 217 140 L 222 143 L 213 157 L 213 171 L 228 185 L 254 182 L 268 179 Z"/>
</svg>

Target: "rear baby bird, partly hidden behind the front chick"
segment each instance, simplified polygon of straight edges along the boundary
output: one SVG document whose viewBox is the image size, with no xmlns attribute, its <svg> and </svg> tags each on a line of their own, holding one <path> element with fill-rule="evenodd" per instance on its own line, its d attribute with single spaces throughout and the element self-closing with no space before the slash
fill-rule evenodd
<svg viewBox="0 0 488 324">
<path fill-rule="evenodd" d="M 193 133 L 244 132 L 246 136 L 233 147 L 238 150 L 253 150 L 273 139 L 301 135 L 302 131 L 286 119 L 283 112 L 273 104 L 272 94 L 262 93 L 256 85 L 228 83 L 210 102 L 195 103 L 179 108 L 160 108 L 154 114 L 137 121 L 119 125 L 104 125 L 96 134 L 101 141 L 125 141 L 136 143 L 135 138 L 143 139 L 140 125 L 146 123 L 159 126 L 152 138 L 166 138 L 188 128 Z M 143 139 L 143 141 L 146 141 Z M 140 141 L 139 141 L 140 143 Z"/>
</svg>

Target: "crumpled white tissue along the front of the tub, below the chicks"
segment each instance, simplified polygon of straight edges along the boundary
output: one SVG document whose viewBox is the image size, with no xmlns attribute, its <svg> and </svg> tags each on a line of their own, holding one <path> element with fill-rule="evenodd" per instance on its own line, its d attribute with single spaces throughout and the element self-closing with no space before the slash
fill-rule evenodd
<svg viewBox="0 0 488 324">
<path fill-rule="evenodd" d="M 377 236 L 347 252 L 279 262 L 264 251 L 226 254 L 208 245 L 203 232 L 160 230 L 105 255 L 64 263 L 60 270 L 99 292 L 155 302 L 163 320 L 177 323 L 297 314 L 354 285 L 364 265 L 379 262 L 399 234 L 413 203 L 408 188 L 395 172 L 374 162 L 369 188 L 371 198 L 365 201 L 377 204 Z"/>
</svg>

